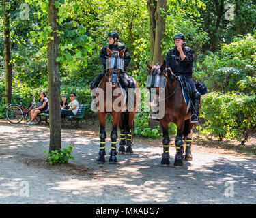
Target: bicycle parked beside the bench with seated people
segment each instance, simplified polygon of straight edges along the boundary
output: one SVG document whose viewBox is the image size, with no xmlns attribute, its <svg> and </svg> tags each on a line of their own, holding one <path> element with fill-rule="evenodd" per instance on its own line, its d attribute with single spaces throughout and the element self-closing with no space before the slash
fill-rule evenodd
<svg viewBox="0 0 256 218">
<path fill-rule="evenodd" d="M 28 96 L 27 96 L 28 97 Z M 33 97 L 33 95 L 30 95 L 29 97 Z M 29 117 L 29 112 L 35 108 L 36 102 L 35 99 L 33 99 L 27 108 L 23 107 L 23 102 L 21 102 L 21 97 L 16 98 L 17 101 L 20 101 L 20 104 L 10 104 L 6 108 L 5 117 L 10 123 L 20 123 L 23 119 L 27 119 Z M 40 118 L 35 118 L 38 123 L 40 122 Z"/>
</svg>

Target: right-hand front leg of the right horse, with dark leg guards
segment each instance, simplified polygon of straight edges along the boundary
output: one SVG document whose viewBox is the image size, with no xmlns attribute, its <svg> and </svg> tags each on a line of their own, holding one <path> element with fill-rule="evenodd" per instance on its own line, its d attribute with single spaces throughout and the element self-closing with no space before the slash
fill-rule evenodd
<svg viewBox="0 0 256 218">
<path fill-rule="evenodd" d="M 175 139 L 175 147 L 176 147 L 176 155 L 174 161 L 175 168 L 181 168 L 183 166 L 183 141 L 182 141 L 182 134 L 184 131 L 184 119 L 180 119 L 177 123 L 177 136 Z"/>
</svg>

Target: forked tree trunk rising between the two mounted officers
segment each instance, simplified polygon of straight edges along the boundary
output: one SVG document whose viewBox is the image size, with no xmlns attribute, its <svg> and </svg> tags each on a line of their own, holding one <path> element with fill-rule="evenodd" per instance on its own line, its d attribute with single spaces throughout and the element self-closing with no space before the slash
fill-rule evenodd
<svg viewBox="0 0 256 218">
<path fill-rule="evenodd" d="M 164 46 L 162 40 L 165 37 L 165 16 L 167 0 L 148 0 L 147 10 L 150 16 L 150 62 L 153 65 L 162 64 Z"/>
</svg>

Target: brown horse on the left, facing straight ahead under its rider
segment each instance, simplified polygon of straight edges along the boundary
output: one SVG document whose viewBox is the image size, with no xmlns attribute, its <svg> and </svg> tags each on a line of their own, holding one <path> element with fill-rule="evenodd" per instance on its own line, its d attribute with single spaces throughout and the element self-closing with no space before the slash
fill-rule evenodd
<svg viewBox="0 0 256 218">
<path fill-rule="evenodd" d="M 97 108 L 98 108 L 98 121 L 100 124 L 100 151 L 98 153 L 98 164 L 105 163 L 106 151 L 106 115 L 111 114 L 113 118 L 112 131 L 111 131 L 111 151 L 109 157 L 109 163 L 117 163 L 117 127 L 120 129 L 120 142 L 119 142 L 119 154 L 132 155 L 132 134 L 134 129 L 134 119 L 137 109 L 137 99 L 139 98 L 138 92 L 133 92 L 132 99 L 134 99 L 133 106 L 129 110 L 126 103 L 126 91 L 122 89 L 119 82 L 119 73 L 124 68 L 124 49 L 120 52 L 111 51 L 106 48 L 109 58 L 106 60 L 106 73 L 102 81 L 98 86 L 98 90 L 101 89 L 102 96 L 100 99 L 97 93 Z M 133 79 L 135 88 L 139 88 L 136 80 Z M 126 140 L 127 136 L 127 140 Z M 126 146 L 126 148 L 125 148 Z"/>
</svg>

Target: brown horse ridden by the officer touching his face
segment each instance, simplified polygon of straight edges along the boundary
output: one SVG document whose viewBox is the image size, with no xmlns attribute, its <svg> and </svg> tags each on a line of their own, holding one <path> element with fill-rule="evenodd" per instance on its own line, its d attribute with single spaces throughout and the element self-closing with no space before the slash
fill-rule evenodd
<svg viewBox="0 0 256 218">
<path fill-rule="evenodd" d="M 165 69 L 165 61 L 162 65 L 150 65 L 147 63 L 147 68 L 149 70 L 149 75 L 160 76 L 159 78 L 166 78 L 165 84 L 165 98 L 159 99 L 159 91 L 160 88 L 156 86 L 152 86 L 151 88 L 156 88 L 156 99 L 158 105 L 165 105 L 164 115 L 160 121 L 160 126 L 162 128 L 162 144 L 163 144 L 163 153 L 161 166 L 169 166 L 170 165 L 170 155 L 169 155 L 169 133 L 168 127 L 169 123 L 175 123 L 177 125 L 177 135 L 175 138 L 175 168 L 181 168 L 183 166 L 184 160 L 184 147 L 183 144 L 186 142 L 186 161 L 192 161 L 193 157 L 191 154 L 191 143 L 192 143 L 192 135 L 193 135 L 193 126 L 195 124 L 190 123 L 191 116 L 191 108 L 187 112 L 186 102 L 184 101 L 184 97 L 182 95 L 182 87 L 176 75 L 167 73 Z M 161 100 L 161 101 L 160 101 Z M 163 102 L 164 101 L 164 102 Z M 183 137 L 183 138 L 182 138 Z"/>
</svg>

